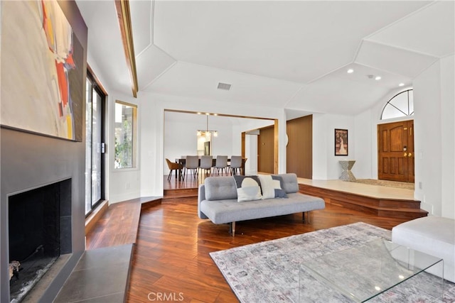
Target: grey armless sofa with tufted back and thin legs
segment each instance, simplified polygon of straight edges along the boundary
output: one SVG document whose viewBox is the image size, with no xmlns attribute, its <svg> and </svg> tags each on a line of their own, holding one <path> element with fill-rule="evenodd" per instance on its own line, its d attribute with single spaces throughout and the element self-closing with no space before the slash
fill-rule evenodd
<svg viewBox="0 0 455 303">
<path fill-rule="evenodd" d="M 283 189 L 287 198 L 261 199 L 237 202 L 237 187 L 233 177 L 207 177 L 198 189 L 198 216 L 210 219 L 214 224 L 230 224 L 230 232 L 235 236 L 235 222 L 282 216 L 324 209 L 323 199 L 299 193 L 295 174 L 279 175 L 283 179 Z M 307 214 L 307 219 L 309 216 Z"/>
</svg>

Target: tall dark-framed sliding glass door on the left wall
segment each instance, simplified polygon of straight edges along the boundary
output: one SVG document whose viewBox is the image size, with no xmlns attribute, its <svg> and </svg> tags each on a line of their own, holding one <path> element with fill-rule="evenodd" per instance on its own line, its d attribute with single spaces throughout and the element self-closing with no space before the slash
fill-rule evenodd
<svg viewBox="0 0 455 303">
<path fill-rule="evenodd" d="M 87 71 L 85 108 L 85 215 L 104 199 L 104 109 L 106 94 Z"/>
</svg>

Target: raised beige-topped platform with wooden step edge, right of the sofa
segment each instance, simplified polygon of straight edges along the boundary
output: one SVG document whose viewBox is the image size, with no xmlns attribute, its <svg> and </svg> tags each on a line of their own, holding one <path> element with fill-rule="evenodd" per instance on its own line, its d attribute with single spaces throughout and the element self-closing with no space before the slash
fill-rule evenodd
<svg viewBox="0 0 455 303">
<path fill-rule="evenodd" d="M 326 203 L 338 204 L 368 214 L 398 219 L 427 216 L 414 199 L 412 189 L 384 187 L 346 182 L 342 180 L 309 180 L 299 178 L 299 189 L 304 194 L 323 198 Z"/>
</svg>

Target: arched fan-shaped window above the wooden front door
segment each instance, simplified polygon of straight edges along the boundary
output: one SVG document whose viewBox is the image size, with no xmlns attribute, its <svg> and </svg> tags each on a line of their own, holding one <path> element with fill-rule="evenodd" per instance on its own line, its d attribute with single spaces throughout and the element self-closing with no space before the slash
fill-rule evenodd
<svg viewBox="0 0 455 303">
<path fill-rule="evenodd" d="M 396 94 L 382 109 L 381 120 L 414 115 L 414 94 L 412 89 Z"/>
</svg>

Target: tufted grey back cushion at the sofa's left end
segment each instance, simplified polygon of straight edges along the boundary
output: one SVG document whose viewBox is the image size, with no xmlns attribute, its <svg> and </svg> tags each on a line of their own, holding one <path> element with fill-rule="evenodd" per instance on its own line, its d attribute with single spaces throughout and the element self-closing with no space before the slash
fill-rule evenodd
<svg viewBox="0 0 455 303">
<path fill-rule="evenodd" d="M 237 199 L 237 187 L 232 177 L 205 178 L 205 199 L 209 201 Z"/>
</svg>

